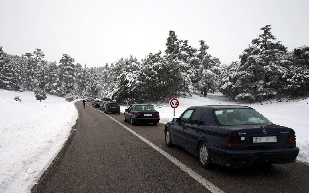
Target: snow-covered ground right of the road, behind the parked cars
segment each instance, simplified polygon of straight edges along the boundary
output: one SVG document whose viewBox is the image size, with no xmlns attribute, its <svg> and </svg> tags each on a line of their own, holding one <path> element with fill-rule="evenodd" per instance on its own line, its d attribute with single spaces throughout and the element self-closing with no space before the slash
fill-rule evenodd
<svg viewBox="0 0 309 193">
<path fill-rule="evenodd" d="M 261 103 L 236 103 L 222 96 L 221 93 L 203 94 L 195 92 L 193 96 L 182 96 L 179 106 L 175 109 L 175 117 L 179 117 L 190 106 L 195 105 L 245 105 L 257 110 L 269 121 L 276 125 L 282 125 L 294 129 L 296 133 L 296 145 L 300 149 L 297 160 L 309 163 L 309 98 L 304 97 L 295 100 L 276 99 Z M 130 105 L 130 104 L 128 104 Z M 173 109 L 169 103 L 157 103 L 155 109 L 160 113 L 160 122 L 167 123 L 173 118 Z M 121 105 L 121 112 L 125 112 L 126 105 Z"/>
</svg>

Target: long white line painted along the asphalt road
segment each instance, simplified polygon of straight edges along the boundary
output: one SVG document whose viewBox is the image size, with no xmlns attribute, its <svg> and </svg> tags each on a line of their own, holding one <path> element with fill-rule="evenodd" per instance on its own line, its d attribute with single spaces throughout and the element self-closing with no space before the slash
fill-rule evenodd
<svg viewBox="0 0 309 193">
<path fill-rule="evenodd" d="M 87 104 L 88 105 L 88 104 Z M 88 105 L 89 106 L 89 105 Z M 89 106 L 90 107 L 90 106 Z M 94 108 L 93 108 L 94 109 Z M 97 109 L 95 109 L 97 110 Z M 99 110 L 97 110 L 99 111 Z M 102 111 L 99 111 L 100 113 L 103 113 Z M 104 114 L 104 113 L 103 113 Z M 208 180 L 206 180 L 203 176 L 199 175 L 198 173 L 196 173 L 194 170 L 192 170 L 191 168 L 189 168 L 188 166 L 184 165 L 182 162 L 180 162 L 179 160 L 177 160 L 176 158 L 174 158 L 173 156 L 171 156 L 170 154 L 168 154 L 167 152 L 165 152 L 164 150 L 162 150 L 161 148 L 159 148 L 158 146 L 156 146 L 155 144 L 151 143 L 150 141 L 148 141 L 146 138 L 144 138 L 143 136 L 141 136 L 140 134 L 136 133 L 135 131 L 133 131 L 132 129 L 130 129 L 129 127 L 123 125 L 121 122 L 117 121 L 116 119 L 112 118 L 111 116 L 104 114 L 106 116 L 108 116 L 109 118 L 111 118 L 112 120 L 116 121 L 119 125 L 121 125 L 122 127 L 124 127 L 125 129 L 127 129 L 129 132 L 133 133 L 136 137 L 140 138 L 141 140 L 143 140 L 145 143 L 147 143 L 148 145 L 150 145 L 151 147 L 153 147 L 155 150 L 157 150 L 160 154 L 162 154 L 164 157 L 166 157 L 168 160 L 170 160 L 171 162 L 173 162 L 176 166 L 178 166 L 181 170 L 183 170 L 186 174 L 188 174 L 189 176 L 191 176 L 193 179 L 195 179 L 197 182 L 199 182 L 202 186 L 204 186 L 205 188 L 207 188 L 207 190 L 209 190 L 212 193 L 225 193 L 224 191 L 222 191 L 220 188 L 216 187 L 214 184 L 212 184 L 211 182 L 209 182 Z"/>
</svg>

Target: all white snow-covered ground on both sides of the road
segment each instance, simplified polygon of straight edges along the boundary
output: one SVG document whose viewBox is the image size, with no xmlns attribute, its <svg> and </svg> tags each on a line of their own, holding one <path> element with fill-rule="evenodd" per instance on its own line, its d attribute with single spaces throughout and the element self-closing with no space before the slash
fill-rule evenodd
<svg viewBox="0 0 309 193">
<path fill-rule="evenodd" d="M 13 100 L 17 95 L 22 103 Z M 0 102 L 0 193 L 30 192 L 68 139 L 78 112 L 74 101 L 49 95 L 40 103 L 31 91 L 0 89 Z M 294 129 L 300 149 L 297 159 L 309 163 L 308 98 L 245 104 L 230 101 L 220 93 L 204 97 L 196 92 L 192 97 L 181 97 L 179 102 L 175 117 L 193 105 L 250 106 L 274 124 Z M 161 123 L 171 121 L 173 109 L 168 102 L 154 105 Z M 121 105 L 121 112 L 125 109 Z"/>
</svg>

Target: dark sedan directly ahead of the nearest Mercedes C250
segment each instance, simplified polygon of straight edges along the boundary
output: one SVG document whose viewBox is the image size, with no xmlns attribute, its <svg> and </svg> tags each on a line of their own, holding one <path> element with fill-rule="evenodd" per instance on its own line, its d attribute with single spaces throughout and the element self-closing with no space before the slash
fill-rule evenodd
<svg viewBox="0 0 309 193">
<path fill-rule="evenodd" d="M 125 109 L 124 121 L 135 123 L 152 123 L 157 125 L 160 121 L 160 113 L 152 105 L 133 104 L 129 109 Z"/>
</svg>

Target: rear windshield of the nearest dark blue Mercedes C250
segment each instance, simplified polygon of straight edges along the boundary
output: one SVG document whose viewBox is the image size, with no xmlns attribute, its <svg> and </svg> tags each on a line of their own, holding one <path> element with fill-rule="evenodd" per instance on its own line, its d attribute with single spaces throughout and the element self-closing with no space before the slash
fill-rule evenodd
<svg viewBox="0 0 309 193">
<path fill-rule="evenodd" d="M 214 117 L 219 125 L 269 125 L 272 124 L 254 109 L 218 109 Z"/>
</svg>

